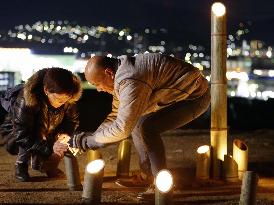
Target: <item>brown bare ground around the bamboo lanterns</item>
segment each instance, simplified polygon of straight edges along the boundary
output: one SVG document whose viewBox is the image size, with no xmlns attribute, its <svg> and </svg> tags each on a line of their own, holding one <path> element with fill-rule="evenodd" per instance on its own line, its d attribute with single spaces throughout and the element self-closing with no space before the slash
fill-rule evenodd
<svg viewBox="0 0 274 205">
<path fill-rule="evenodd" d="M 229 134 L 228 152 L 232 152 L 232 140 L 244 140 L 249 148 L 249 169 L 260 176 L 257 204 L 274 204 L 274 131 L 257 130 Z M 209 144 L 208 130 L 177 130 L 163 135 L 168 167 L 175 177 L 177 190 L 174 204 L 238 204 L 241 182 L 195 181 L 195 151 L 200 145 Z M 102 204 L 154 204 L 138 201 L 142 189 L 127 189 L 114 183 L 117 147 L 101 150 L 106 161 Z M 14 179 L 15 156 L 8 155 L 0 147 L 0 204 L 81 204 L 81 191 L 69 191 L 65 179 L 49 180 L 43 174 L 30 170 L 32 182 Z M 86 155 L 78 157 L 83 180 Z M 131 170 L 138 169 L 138 158 L 132 148 Z M 60 168 L 64 170 L 64 163 Z M 153 199 L 153 197 L 151 197 Z"/>
</svg>

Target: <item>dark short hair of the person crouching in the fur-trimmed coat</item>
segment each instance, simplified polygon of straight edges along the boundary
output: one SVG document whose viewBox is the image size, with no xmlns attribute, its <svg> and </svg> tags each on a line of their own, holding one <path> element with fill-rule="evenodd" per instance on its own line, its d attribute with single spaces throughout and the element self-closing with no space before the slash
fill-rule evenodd
<svg viewBox="0 0 274 205">
<path fill-rule="evenodd" d="M 50 93 L 74 94 L 78 86 L 71 71 L 63 68 L 48 68 L 43 78 L 43 85 Z"/>
</svg>

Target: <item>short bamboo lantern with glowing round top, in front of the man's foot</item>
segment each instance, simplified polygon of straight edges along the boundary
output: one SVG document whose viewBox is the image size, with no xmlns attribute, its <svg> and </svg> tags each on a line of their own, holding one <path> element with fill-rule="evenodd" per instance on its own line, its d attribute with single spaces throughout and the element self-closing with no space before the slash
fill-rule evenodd
<svg viewBox="0 0 274 205">
<path fill-rule="evenodd" d="M 170 171 L 161 170 L 156 176 L 155 184 L 155 204 L 172 204 L 173 177 Z"/>
</svg>

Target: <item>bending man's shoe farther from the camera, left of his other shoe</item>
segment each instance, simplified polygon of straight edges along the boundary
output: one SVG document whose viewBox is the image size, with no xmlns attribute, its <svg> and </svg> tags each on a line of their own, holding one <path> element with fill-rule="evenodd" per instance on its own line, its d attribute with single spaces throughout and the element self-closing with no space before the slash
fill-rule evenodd
<svg viewBox="0 0 274 205">
<path fill-rule="evenodd" d="M 143 177 L 141 174 L 136 174 L 128 178 L 120 178 L 115 182 L 122 187 L 149 187 L 153 183 L 152 177 Z"/>
</svg>

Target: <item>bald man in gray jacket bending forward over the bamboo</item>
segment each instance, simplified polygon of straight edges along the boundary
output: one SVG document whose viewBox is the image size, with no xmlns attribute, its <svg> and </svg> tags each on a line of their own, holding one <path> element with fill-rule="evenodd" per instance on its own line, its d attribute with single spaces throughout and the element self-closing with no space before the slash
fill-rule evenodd
<svg viewBox="0 0 274 205">
<path fill-rule="evenodd" d="M 72 145 L 96 149 L 131 135 L 141 174 L 134 176 L 131 183 L 127 181 L 128 186 L 152 183 L 149 179 L 166 168 L 160 134 L 189 123 L 210 104 L 208 82 L 201 72 L 162 54 L 118 59 L 94 56 L 87 63 L 85 77 L 98 91 L 113 95 L 112 112 L 92 135 L 75 135 Z M 123 180 L 119 183 L 123 184 Z"/>
</svg>

